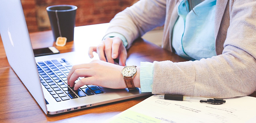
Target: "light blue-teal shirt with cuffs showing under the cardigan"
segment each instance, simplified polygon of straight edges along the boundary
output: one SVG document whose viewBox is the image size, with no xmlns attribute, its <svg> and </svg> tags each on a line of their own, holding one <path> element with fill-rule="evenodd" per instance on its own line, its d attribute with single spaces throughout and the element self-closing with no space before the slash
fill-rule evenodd
<svg viewBox="0 0 256 123">
<path fill-rule="evenodd" d="M 188 4 L 187 4 L 188 5 Z M 188 7 L 187 7 L 188 8 Z M 173 28 L 172 46 L 175 53 L 190 60 L 216 56 L 214 39 L 214 17 L 216 0 L 205 0 L 187 13 L 184 0 L 178 7 L 179 18 Z M 195 12 L 195 13 L 194 13 Z M 109 37 L 116 33 L 109 34 Z M 121 34 L 120 34 L 121 35 Z M 123 35 L 119 37 L 127 46 Z M 107 36 L 105 36 L 107 37 Z M 154 64 L 140 63 L 141 92 L 152 92 Z"/>
</svg>

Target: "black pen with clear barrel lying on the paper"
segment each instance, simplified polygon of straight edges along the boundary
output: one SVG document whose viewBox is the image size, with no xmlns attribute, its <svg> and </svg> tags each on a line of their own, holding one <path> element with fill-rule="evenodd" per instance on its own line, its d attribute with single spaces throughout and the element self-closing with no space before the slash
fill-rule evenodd
<svg viewBox="0 0 256 123">
<path fill-rule="evenodd" d="M 190 96 L 184 96 L 184 95 L 175 95 L 175 94 L 156 94 L 154 95 L 158 98 L 164 98 L 165 100 L 178 100 L 178 101 L 190 101 L 190 100 L 199 100 L 200 103 L 209 103 L 213 105 L 220 105 L 223 103 L 226 103 L 225 100 L 220 99 L 220 98 L 199 98 L 199 97 L 190 97 Z"/>
</svg>

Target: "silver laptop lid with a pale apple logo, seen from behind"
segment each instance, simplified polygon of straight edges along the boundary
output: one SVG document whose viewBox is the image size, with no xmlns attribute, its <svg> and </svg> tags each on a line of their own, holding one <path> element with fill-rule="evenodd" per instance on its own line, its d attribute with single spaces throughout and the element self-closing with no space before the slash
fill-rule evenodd
<svg viewBox="0 0 256 123">
<path fill-rule="evenodd" d="M 21 1 L 0 0 L 0 13 L 0 34 L 8 62 L 47 114 Z"/>
</svg>

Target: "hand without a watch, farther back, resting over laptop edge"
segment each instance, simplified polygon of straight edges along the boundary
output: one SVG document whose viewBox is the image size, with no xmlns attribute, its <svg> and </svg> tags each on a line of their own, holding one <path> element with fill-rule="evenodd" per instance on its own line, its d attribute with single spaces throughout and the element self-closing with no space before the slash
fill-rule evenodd
<svg viewBox="0 0 256 123">
<path fill-rule="evenodd" d="M 90 58 L 93 58 L 92 52 L 97 52 L 102 61 L 114 64 L 114 59 L 119 59 L 119 65 L 126 65 L 127 51 L 123 46 L 123 41 L 119 37 L 108 37 L 97 47 L 90 47 L 88 51 Z"/>
</svg>

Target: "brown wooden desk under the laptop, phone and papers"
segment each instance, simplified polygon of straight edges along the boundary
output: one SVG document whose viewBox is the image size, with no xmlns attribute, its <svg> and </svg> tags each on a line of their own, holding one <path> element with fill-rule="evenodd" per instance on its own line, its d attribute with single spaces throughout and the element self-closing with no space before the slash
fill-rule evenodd
<svg viewBox="0 0 256 123">
<path fill-rule="evenodd" d="M 56 46 L 56 48 L 61 53 L 71 51 L 87 53 L 89 47 L 88 42 L 90 42 L 90 46 L 96 46 L 99 41 L 101 41 L 102 34 L 104 34 L 106 27 L 107 24 L 76 27 L 74 41 L 68 42 L 64 47 Z M 102 28 L 104 29 L 102 30 Z M 31 33 L 30 36 L 33 48 L 55 46 L 51 31 Z M 128 65 L 139 66 L 140 62 L 163 60 L 171 60 L 173 62 L 186 61 L 143 39 L 137 39 L 134 45 L 128 50 Z M 256 97 L 256 93 L 253 93 L 251 96 Z M 46 116 L 36 103 L 36 100 L 33 99 L 26 87 L 9 66 L 2 40 L 0 39 L 0 122 L 2 123 L 92 123 L 92 121 L 101 123 L 133 105 L 140 103 L 147 97 L 149 96 L 123 100 L 54 116 Z"/>
</svg>

